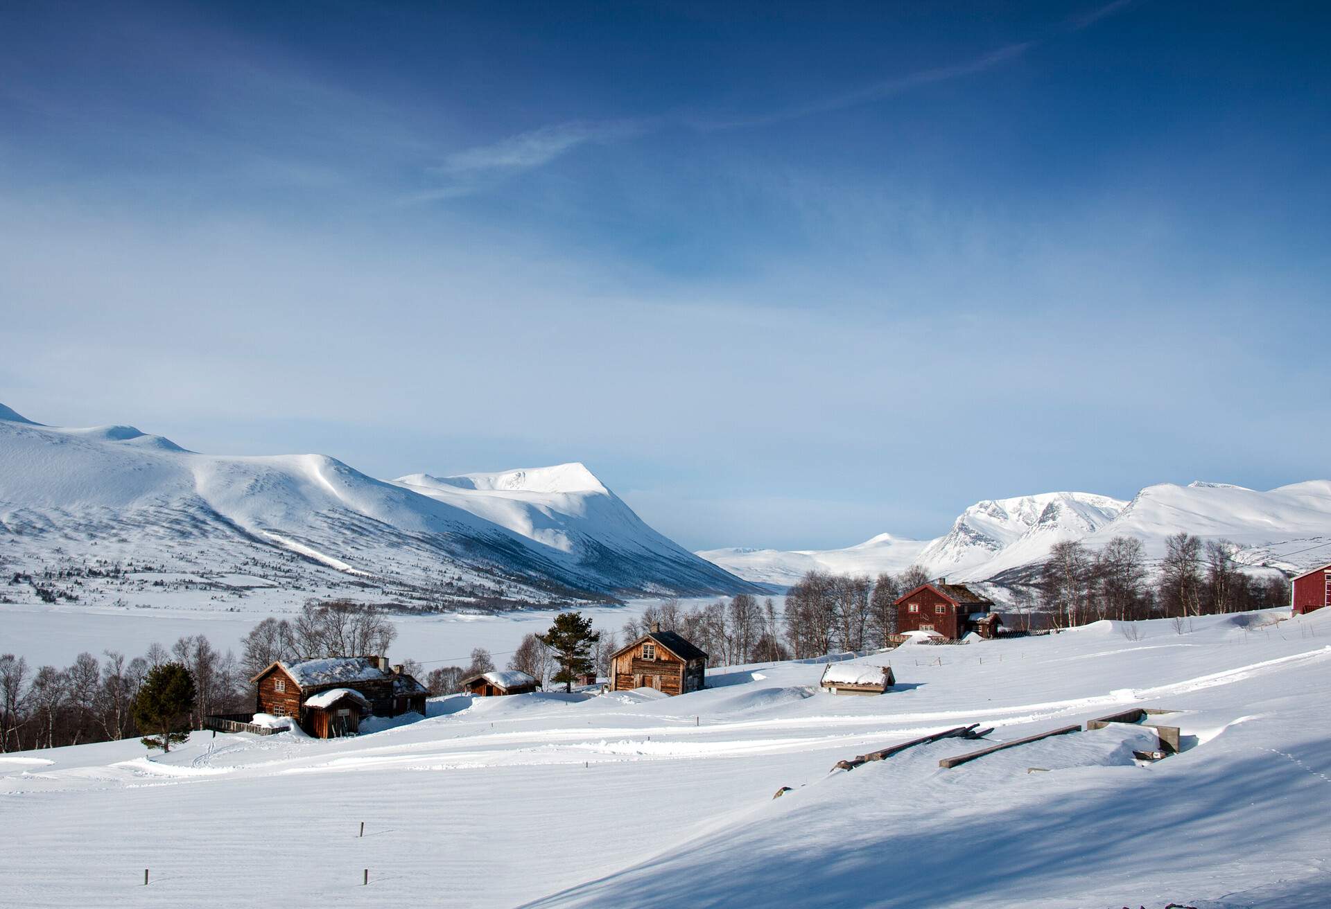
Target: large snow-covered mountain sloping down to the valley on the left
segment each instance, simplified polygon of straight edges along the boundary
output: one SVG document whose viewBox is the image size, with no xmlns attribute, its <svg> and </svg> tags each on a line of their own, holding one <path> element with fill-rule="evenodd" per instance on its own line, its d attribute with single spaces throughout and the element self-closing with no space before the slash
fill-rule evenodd
<svg viewBox="0 0 1331 909">
<path fill-rule="evenodd" d="M 582 464 L 386 482 L 325 455 L 206 455 L 132 426 L 41 426 L 0 407 L 7 570 L 56 556 L 242 567 L 274 554 L 418 600 L 749 588 Z"/>
</svg>

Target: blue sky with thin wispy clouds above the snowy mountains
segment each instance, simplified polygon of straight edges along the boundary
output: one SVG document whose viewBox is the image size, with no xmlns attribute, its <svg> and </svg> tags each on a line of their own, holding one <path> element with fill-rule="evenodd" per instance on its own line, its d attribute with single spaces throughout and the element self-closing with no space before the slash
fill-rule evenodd
<svg viewBox="0 0 1331 909">
<path fill-rule="evenodd" d="M 685 546 L 1328 474 L 1318 4 L 0 11 L 0 401 Z M 1320 417 L 1320 418 L 1319 418 Z"/>
</svg>

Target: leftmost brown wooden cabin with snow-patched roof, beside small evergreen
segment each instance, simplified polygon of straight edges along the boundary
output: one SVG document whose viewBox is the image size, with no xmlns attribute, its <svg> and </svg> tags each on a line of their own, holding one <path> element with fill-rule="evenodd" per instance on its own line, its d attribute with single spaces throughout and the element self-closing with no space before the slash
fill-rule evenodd
<svg viewBox="0 0 1331 909">
<path fill-rule="evenodd" d="M 366 716 L 425 713 L 426 687 L 385 656 L 272 663 L 254 676 L 254 711 L 290 716 L 309 735 L 349 735 Z M 337 697 L 333 697 L 333 693 Z"/>
</svg>

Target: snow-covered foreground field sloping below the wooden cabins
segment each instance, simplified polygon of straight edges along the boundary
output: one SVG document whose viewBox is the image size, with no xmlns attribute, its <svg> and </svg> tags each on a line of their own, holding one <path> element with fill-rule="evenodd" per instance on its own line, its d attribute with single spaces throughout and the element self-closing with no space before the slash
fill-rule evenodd
<svg viewBox="0 0 1331 909">
<path fill-rule="evenodd" d="M 439 699 L 338 741 L 7 755 L 0 901 L 1324 906 L 1331 610 L 1286 615 L 906 644 L 861 659 L 896 672 L 874 697 L 785 663 L 673 699 Z M 1009 740 L 1129 705 L 1174 711 L 1183 753 L 1138 765 L 1150 740 L 1114 725 L 946 771 L 976 743 L 831 771 L 954 725 Z"/>
</svg>

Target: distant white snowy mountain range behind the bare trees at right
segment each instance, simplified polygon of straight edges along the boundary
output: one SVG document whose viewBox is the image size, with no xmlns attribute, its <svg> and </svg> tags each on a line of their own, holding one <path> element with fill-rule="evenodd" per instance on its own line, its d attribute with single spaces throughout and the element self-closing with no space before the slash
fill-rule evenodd
<svg viewBox="0 0 1331 909">
<path fill-rule="evenodd" d="M 932 540 L 882 534 L 844 550 L 725 548 L 697 555 L 768 584 L 792 584 L 811 568 L 876 575 L 920 564 L 949 580 L 1001 587 L 1033 579 L 1059 540 L 1098 548 L 1114 536 L 1135 536 L 1147 556 L 1158 559 L 1165 539 L 1178 531 L 1231 540 L 1240 547 L 1238 560 L 1248 566 L 1288 572 L 1331 562 L 1331 480 L 1267 492 L 1227 483 L 1161 483 L 1131 502 L 1090 492 L 986 499 Z"/>
</svg>

